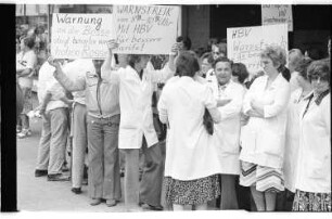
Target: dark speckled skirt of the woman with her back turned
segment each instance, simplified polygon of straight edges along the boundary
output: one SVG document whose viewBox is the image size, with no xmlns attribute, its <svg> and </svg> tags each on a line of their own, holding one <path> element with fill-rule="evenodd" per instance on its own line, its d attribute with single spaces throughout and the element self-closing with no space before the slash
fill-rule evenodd
<svg viewBox="0 0 332 219">
<path fill-rule="evenodd" d="M 220 195 L 218 175 L 189 181 L 165 177 L 164 186 L 169 205 L 202 205 Z"/>
</svg>

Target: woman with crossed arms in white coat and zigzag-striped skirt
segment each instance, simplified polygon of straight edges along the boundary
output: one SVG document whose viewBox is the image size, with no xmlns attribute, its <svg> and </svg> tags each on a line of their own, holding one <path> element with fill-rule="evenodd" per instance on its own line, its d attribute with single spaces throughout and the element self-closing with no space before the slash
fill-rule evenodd
<svg viewBox="0 0 332 219">
<path fill-rule="evenodd" d="M 274 210 L 277 192 L 283 191 L 283 151 L 290 85 L 278 70 L 285 51 L 267 47 L 261 53 L 264 76 L 258 77 L 243 101 L 250 116 L 242 132 L 240 184 L 251 186 L 257 210 Z"/>
</svg>

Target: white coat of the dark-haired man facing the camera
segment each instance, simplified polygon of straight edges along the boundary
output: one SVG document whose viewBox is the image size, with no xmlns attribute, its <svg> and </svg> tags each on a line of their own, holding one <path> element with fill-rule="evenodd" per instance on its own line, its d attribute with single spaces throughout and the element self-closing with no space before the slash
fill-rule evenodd
<svg viewBox="0 0 332 219">
<path fill-rule="evenodd" d="M 221 123 L 215 125 L 214 137 L 218 141 L 221 173 L 240 175 L 240 119 L 245 89 L 230 80 L 224 91 L 219 89 L 215 92 L 219 93 L 220 99 L 231 99 L 227 105 L 218 107 Z"/>
</svg>

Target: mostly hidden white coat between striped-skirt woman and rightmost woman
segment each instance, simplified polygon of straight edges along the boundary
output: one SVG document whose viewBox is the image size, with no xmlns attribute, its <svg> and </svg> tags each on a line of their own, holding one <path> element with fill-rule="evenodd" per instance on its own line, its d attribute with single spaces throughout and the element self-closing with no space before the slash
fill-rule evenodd
<svg viewBox="0 0 332 219">
<path fill-rule="evenodd" d="M 296 165 L 299 147 L 299 113 L 306 105 L 306 101 L 301 99 L 302 88 L 293 91 L 288 106 L 288 125 L 283 160 L 284 186 L 295 192 Z"/>
</svg>

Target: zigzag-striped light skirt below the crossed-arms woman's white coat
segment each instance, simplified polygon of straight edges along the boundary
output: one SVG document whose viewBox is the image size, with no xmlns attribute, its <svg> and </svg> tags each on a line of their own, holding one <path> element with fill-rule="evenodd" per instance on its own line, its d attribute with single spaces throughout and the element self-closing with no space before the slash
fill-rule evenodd
<svg viewBox="0 0 332 219">
<path fill-rule="evenodd" d="M 241 162 L 240 184 L 243 186 L 255 185 L 259 192 L 284 191 L 281 169 L 264 167 L 247 162 Z"/>
</svg>

